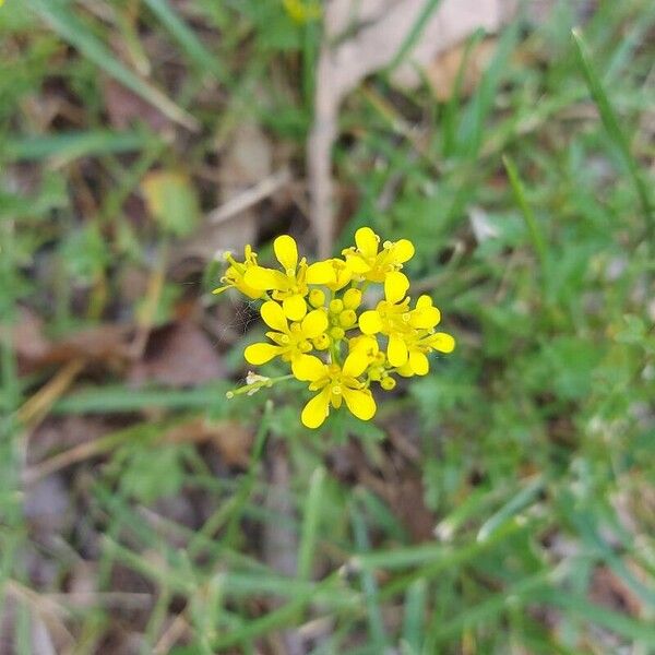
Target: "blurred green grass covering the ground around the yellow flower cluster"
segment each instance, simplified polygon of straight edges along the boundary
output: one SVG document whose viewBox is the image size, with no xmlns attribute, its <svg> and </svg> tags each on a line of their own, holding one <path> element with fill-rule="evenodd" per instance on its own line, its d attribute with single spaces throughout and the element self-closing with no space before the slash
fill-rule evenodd
<svg viewBox="0 0 655 655">
<path fill-rule="evenodd" d="M 147 0 L 139 14 L 127 0 L 7 0 L 0 641 L 32 653 L 45 629 L 70 653 L 284 652 L 302 626 L 317 655 L 652 653 L 651 4 L 603 1 L 581 25 L 560 2 L 543 24 L 512 24 L 473 93 L 460 75 L 446 103 L 385 72 L 349 96 L 334 159 L 355 200 L 335 250 L 361 225 L 412 239 L 412 278 L 458 346 L 373 424 L 336 416 L 317 438 L 295 388 L 224 400 L 243 374 L 246 310 L 216 305 L 211 262 L 181 278 L 163 263 L 184 229 L 130 203 L 148 171 L 184 170 L 184 192 L 213 209 L 204 174 L 245 121 L 301 171 L 318 26 L 273 0 Z M 111 124 L 108 78 L 169 127 Z M 298 209 L 260 210 L 264 259 L 272 234 L 307 227 Z M 26 309 L 50 338 L 140 324 L 122 275 L 157 288 L 163 266 L 154 325 L 189 303 L 227 323 L 215 347 L 234 380 L 134 389 L 100 361 L 40 428 L 22 425 L 59 369 L 20 376 L 8 326 Z M 171 441 L 199 417 L 213 437 Z M 67 508 L 44 522 L 24 477 L 67 462 L 75 420 L 97 448 L 43 478 Z M 221 426 L 251 433 L 249 464 L 216 464 Z M 48 430 L 61 443 L 47 446 Z M 295 574 L 266 552 L 271 535 Z"/>
</svg>

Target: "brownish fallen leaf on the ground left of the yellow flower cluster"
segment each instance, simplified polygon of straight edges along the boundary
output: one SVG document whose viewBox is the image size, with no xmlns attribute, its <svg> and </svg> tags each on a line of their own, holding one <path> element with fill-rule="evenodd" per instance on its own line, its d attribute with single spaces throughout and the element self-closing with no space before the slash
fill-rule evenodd
<svg viewBox="0 0 655 655">
<path fill-rule="evenodd" d="M 143 359 L 134 362 L 132 383 L 194 386 L 225 377 L 225 368 L 210 337 L 191 321 L 154 330 Z"/>
</svg>

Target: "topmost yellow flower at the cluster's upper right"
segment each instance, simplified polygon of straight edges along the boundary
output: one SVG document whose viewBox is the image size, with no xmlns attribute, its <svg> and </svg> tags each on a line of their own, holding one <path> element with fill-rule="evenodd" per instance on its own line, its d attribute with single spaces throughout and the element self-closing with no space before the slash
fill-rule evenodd
<svg viewBox="0 0 655 655">
<path fill-rule="evenodd" d="M 400 271 L 414 257 L 414 245 L 408 239 L 384 241 L 378 252 L 380 237 L 370 227 L 360 227 L 355 233 L 355 243 L 356 248 L 346 248 L 342 254 L 355 275 L 370 282 L 384 282 L 390 273 Z"/>
</svg>

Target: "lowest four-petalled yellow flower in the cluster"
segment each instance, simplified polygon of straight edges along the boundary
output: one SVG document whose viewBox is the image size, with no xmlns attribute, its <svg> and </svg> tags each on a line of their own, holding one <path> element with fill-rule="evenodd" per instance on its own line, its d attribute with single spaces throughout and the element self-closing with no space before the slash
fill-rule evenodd
<svg viewBox="0 0 655 655">
<path fill-rule="evenodd" d="M 360 350 L 352 352 L 343 368 L 337 364 L 323 364 L 313 355 L 302 355 L 291 362 L 291 370 L 298 380 L 311 382 L 310 391 L 318 391 L 300 415 L 308 428 L 318 428 L 323 424 L 330 406 L 335 409 L 346 402 L 348 409 L 361 420 L 369 420 L 376 414 L 376 401 L 364 382 L 357 380 L 366 370 L 370 359 Z"/>
</svg>

